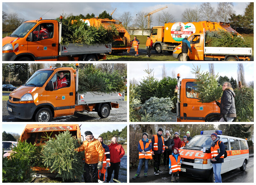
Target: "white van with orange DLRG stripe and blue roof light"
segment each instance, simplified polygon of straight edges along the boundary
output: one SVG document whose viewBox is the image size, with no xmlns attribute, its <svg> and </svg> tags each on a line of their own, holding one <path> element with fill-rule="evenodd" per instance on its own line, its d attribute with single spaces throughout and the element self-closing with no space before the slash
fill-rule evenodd
<svg viewBox="0 0 256 185">
<path fill-rule="evenodd" d="M 214 182 L 211 163 L 211 153 L 203 153 L 203 147 L 211 148 L 211 134 L 216 132 L 218 138 L 225 145 L 228 156 L 221 165 L 221 174 L 240 167 L 244 171 L 249 160 L 249 149 L 245 139 L 223 136 L 222 131 L 201 131 L 201 135 L 194 136 L 188 144 L 179 149 L 182 174 Z"/>
</svg>

